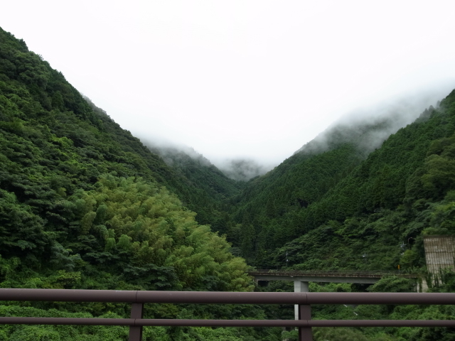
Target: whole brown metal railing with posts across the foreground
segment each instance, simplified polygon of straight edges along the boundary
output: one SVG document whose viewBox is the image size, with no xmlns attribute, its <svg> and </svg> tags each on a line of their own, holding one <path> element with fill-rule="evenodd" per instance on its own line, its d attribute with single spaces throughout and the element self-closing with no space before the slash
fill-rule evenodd
<svg viewBox="0 0 455 341">
<path fill-rule="evenodd" d="M 311 304 L 455 304 L 455 293 L 234 293 L 213 291 L 112 291 L 4 289 L 0 301 L 132 303 L 130 318 L 16 318 L 0 324 L 128 325 L 129 341 L 141 341 L 144 326 L 297 327 L 311 341 L 312 327 L 455 327 L 455 320 L 311 320 Z M 142 318 L 144 303 L 298 304 L 299 320 L 172 320 Z"/>
</svg>

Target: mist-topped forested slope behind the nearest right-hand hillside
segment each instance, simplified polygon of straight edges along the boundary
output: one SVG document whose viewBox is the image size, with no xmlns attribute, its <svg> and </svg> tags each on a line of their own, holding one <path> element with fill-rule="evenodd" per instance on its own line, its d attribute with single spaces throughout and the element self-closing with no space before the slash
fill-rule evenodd
<svg viewBox="0 0 455 341">
<path fill-rule="evenodd" d="M 249 251 L 279 247 L 314 228 L 306 222 L 306 212 L 346 178 L 387 136 L 409 120 L 400 117 L 393 107 L 370 121 L 350 119 L 327 129 L 303 146 L 273 171 L 250 181 L 237 197 L 232 217 L 250 226 Z M 307 210 L 308 209 L 308 210 Z M 245 222 L 245 217 L 247 221 Z M 317 223 L 316 223 L 317 226 Z M 303 227 L 303 229 L 302 229 Z M 235 244 L 242 244 L 244 228 L 228 234 Z M 236 234 L 236 232 L 239 232 Z M 253 240 L 254 239 L 254 240 Z M 246 245 L 245 245 L 246 246 Z M 254 252 L 253 252 L 254 253 Z"/>
</svg>

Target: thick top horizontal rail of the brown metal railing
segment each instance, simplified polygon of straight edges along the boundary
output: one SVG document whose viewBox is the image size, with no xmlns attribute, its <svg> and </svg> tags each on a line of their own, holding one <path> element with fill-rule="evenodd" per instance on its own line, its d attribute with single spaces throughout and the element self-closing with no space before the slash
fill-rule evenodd
<svg viewBox="0 0 455 341">
<path fill-rule="evenodd" d="M 0 288 L 0 301 L 203 304 L 455 304 L 455 293 L 242 293 L 224 291 Z"/>
</svg>

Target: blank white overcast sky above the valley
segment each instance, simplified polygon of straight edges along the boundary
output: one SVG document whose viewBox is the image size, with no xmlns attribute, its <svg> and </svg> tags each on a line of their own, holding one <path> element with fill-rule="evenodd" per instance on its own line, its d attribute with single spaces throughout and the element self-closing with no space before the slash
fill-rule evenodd
<svg viewBox="0 0 455 341">
<path fill-rule="evenodd" d="M 138 137 L 279 163 L 360 105 L 455 87 L 454 14 L 451 0 L 14 0 L 0 27 Z"/>
</svg>

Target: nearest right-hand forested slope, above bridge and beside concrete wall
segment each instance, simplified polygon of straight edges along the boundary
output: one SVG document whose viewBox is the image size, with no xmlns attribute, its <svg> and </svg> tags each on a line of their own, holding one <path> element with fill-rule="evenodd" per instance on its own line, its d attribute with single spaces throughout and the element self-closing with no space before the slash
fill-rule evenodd
<svg viewBox="0 0 455 341">
<path fill-rule="evenodd" d="M 300 226 L 309 233 L 284 247 L 294 247 L 294 264 L 305 269 L 393 269 L 401 264 L 408 270 L 424 265 L 422 234 L 455 233 L 454 103 L 451 92 L 441 107 L 390 136 L 302 212 Z M 284 249 L 277 250 L 275 264 Z"/>
</svg>

